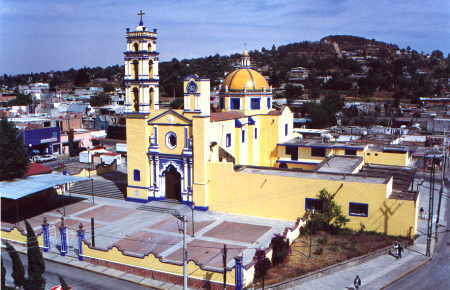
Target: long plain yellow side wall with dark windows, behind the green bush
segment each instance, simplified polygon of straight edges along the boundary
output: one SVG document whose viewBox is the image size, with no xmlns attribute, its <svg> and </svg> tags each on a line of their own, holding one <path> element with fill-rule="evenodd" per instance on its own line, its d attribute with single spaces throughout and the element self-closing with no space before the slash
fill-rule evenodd
<svg viewBox="0 0 450 290">
<path fill-rule="evenodd" d="M 213 211 L 296 220 L 305 213 L 305 198 L 315 198 L 323 188 L 335 192 L 344 184 L 336 201 L 345 214 L 348 215 L 349 202 L 369 204 L 369 216 L 349 216 L 348 227 L 359 230 L 360 223 L 364 223 L 367 230 L 386 231 L 390 235 L 406 236 L 410 231 L 415 232 L 415 203 L 385 198 L 392 188 L 392 180 L 368 183 L 250 174 L 234 171 L 232 164 L 223 162 L 209 163 L 208 170 L 208 205 Z M 386 210 L 393 214 L 387 213 L 385 219 Z"/>
</svg>

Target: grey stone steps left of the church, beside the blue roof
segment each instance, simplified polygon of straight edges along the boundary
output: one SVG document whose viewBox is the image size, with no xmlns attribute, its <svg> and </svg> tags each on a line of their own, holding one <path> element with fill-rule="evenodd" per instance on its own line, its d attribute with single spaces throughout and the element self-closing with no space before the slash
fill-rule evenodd
<svg viewBox="0 0 450 290">
<path fill-rule="evenodd" d="M 124 194 L 120 188 L 111 180 L 107 179 L 93 179 L 79 181 L 73 184 L 70 189 L 70 194 L 92 195 L 92 183 L 94 188 L 94 196 L 124 199 Z"/>
</svg>

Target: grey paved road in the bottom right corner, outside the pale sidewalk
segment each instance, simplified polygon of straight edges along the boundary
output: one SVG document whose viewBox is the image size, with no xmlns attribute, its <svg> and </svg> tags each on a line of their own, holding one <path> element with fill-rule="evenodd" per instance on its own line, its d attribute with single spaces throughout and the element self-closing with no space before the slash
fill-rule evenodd
<svg viewBox="0 0 450 290">
<path fill-rule="evenodd" d="M 449 187 L 447 186 L 447 192 Z M 389 290 L 450 289 L 450 200 L 447 202 L 447 227 L 439 228 L 439 240 L 431 262 L 400 279 Z"/>
</svg>

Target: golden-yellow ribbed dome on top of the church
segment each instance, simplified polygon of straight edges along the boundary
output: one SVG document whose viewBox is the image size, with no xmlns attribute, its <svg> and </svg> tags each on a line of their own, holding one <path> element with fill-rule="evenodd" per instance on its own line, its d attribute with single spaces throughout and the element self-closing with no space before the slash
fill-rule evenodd
<svg viewBox="0 0 450 290">
<path fill-rule="evenodd" d="M 266 79 L 250 68 L 237 69 L 227 75 L 223 85 L 230 91 L 263 91 L 269 90 Z"/>
</svg>

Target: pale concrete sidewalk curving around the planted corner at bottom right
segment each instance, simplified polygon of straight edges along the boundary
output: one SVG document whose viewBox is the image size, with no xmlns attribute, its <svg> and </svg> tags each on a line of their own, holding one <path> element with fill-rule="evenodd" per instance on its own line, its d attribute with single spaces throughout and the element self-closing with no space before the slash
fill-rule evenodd
<svg viewBox="0 0 450 290">
<path fill-rule="evenodd" d="M 423 207 L 425 211 L 427 211 L 429 202 L 429 184 L 426 181 L 420 184 L 419 181 L 418 186 L 420 191 L 419 208 Z M 440 186 L 436 186 L 434 201 L 435 213 L 437 210 L 439 189 Z M 448 191 L 448 188 L 446 188 L 444 193 L 447 193 Z M 446 203 L 447 199 L 443 198 L 439 222 L 440 226 L 447 225 L 445 219 Z M 291 279 L 289 282 L 277 287 L 272 287 L 271 289 L 354 289 L 353 280 L 356 275 L 359 275 L 361 278 L 362 286 L 360 289 L 383 289 L 385 286 L 406 276 L 430 260 L 429 257 L 425 256 L 427 243 L 426 217 L 427 216 L 425 215 L 424 219 L 418 220 L 417 229 L 419 237 L 415 240 L 413 246 L 405 249 L 401 259 L 396 259 L 391 255 L 384 254 L 358 265 L 337 267 L 336 270 L 331 271 L 329 274 L 323 274 L 323 276 L 317 277 L 317 275 L 314 275 L 310 278 Z M 433 217 L 433 231 L 435 220 L 436 214 L 434 214 Z M 434 249 L 434 243 L 435 239 L 433 238 L 431 243 L 432 250 Z"/>
</svg>

